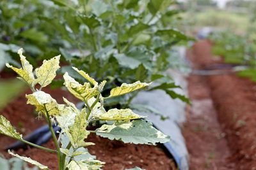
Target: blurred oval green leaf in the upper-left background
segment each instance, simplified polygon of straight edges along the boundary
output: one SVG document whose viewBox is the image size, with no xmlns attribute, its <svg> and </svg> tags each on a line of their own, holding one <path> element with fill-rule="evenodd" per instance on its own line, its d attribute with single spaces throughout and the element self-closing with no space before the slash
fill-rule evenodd
<svg viewBox="0 0 256 170">
<path fill-rule="evenodd" d="M 48 41 L 48 38 L 44 34 L 44 32 L 36 31 L 35 28 L 23 31 L 20 34 L 20 36 L 22 36 L 24 38 L 31 39 L 32 41 L 38 41 L 38 42 L 41 42 L 41 43 L 46 43 Z"/>
</svg>

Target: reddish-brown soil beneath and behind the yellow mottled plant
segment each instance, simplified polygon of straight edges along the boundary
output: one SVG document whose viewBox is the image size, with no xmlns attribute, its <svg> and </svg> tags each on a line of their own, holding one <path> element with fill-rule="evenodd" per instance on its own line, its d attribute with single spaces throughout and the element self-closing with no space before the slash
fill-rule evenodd
<svg viewBox="0 0 256 170">
<path fill-rule="evenodd" d="M 7 75 L 6 78 L 7 77 L 9 76 Z M 51 90 L 47 88 L 46 91 L 59 103 L 63 103 L 62 97 L 66 97 L 72 102 L 77 101 L 67 92 L 60 89 Z M 29 93 L 29 90 L 24 92 L 24 94 Z M 17 127 L 19 132 L 26 135 L 45 123 L 44 120 L 35 118 L 35 115 L 33 115 L 33 106 L 26 105 L 24 94 L 8 104 L 8 106 L 1 111 L 1 115 L 8 118 L 8 120 Z M 0 152 L 3 153 L 4 157 L 10 158 L 10 155 L 4 151 L 4 148 L 14 141 L 13 139 L 0 135 Z M 88 141 L 92 141 L 96 144 L 95 146 L 90 146 L 88 149 L 90 153 L 97 156 L 97 159 L 106 162 L 104 169 L 119 170 L 136 166 L 152 170 L 176 169 L 173 160 L 170 159 L 159 146 L 124 144 L 120 141 L 110 141 L 106 138 L 100 138 L 93 134 L 90 135 Z M 43 146 L 54 149 L 52 141 L 49 141 Z M 53 153 L 44 152 L 36 148 L 28 148 L 28 150 L 20 149 L 17 150 L 16 153 L 38 160 L 38 162 L 45 164 L 52 170 L 58 169 L 57 157 Z"/>
</svg>

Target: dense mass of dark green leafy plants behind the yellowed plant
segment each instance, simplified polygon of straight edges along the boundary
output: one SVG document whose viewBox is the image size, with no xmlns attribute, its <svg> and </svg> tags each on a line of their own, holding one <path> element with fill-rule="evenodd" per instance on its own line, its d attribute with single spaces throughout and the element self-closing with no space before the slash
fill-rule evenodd
<svg viewBox="0 0 256 170">
<path fill-rule="evenodd" d="M 17 6 L 15 1 L 12 3 L 12 6 Z M 10 4 L 3 2 L 6 9 L 10 8 Z M 20 33 L 14 27 L 17 21 L 13 19 L 11 24 L 3 23 L 8 27 L 3 34 L 11 35 L 8 43 L 25 43 L 24 48 L 31 55 L 31 61 L 36 55 L 44 52 L 44 56 L 55 55 L 60 50 L 70 66 L 61 67 L 59 73 L 68 72 L 81 81 L 81 76 L 72 69 L 74 66 L 97 77 L 97 81 L 108 80 L 102 94 L 108 94 L 116 85 L 138 80 L 156 81 L 154 85 L 161 89 L 161 84 L 173 84 L 172 78 L 165 73 L 171 67 L 172 47 L 189 39 L 175 29 L 178 12 L 170 8 L 173 4 L 175 2 L 169 0 L 26 0 L 22 3 L 23 9 L 33 9 L 33 18 L 38 18 L 40 22 L 31 20 L 29 10 L 28 13 L 11 8 L 10 14 L 3 9 L 4 20 L 10 20 L 10 15 L 19 15 L 19 21 L 23 23 L 20 25 L 26 25 L 19 27 L 24 28 Z M 40 41 L 35 37 L 39 37 Z M 35 65 L 40 58 L 33 60 Z M 63 82 L 55 81 L 53 84 L 61 86 Z M 188 102 L 185 96 L 175 94 L 172 88 L 179 87 L 161 90 L 170 97 Z M 137 94 L 132 92 L 109 99 L 106 107 L 127 108 Z"/>
</svg>

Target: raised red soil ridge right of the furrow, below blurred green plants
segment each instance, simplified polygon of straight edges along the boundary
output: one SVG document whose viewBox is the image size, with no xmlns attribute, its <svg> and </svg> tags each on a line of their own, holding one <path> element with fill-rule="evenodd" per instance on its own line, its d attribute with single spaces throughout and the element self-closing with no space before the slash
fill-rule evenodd
<svg viewBox="0 0 256 170">
<path fill-rule="evenodd" d="M 193 46 L 193 55 L 188 57 L 195 69 L 223 63 L 220 57 L 212 56 L 211 46 L 209 41 L 200 41 Z M 256 169 L 256 83 L 234 73 L 201 78 L 209 88 L 216 108 L 223 131 L 221 136 L 225 136 L 230 148 L 230 155 L 224 160 L 225 164 L 234 162 L 236 166 L 233 169 Z"/>
</svg>

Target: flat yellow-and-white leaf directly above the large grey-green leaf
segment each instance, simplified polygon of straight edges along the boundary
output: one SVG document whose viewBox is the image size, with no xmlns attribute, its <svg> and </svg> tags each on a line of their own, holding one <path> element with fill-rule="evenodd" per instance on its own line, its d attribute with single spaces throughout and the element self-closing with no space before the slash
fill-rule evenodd
<svg viewBox="0 0 256 170">
<path fill-rule="evenodd" d="M 102 113 L 96 116 L 100 120 L 132 120 L 138 118 L 144 118 L 143 116 L 137 115 L 130 109 L 118 110 L 111 109 L 106 113 Z"/>
</svg>

